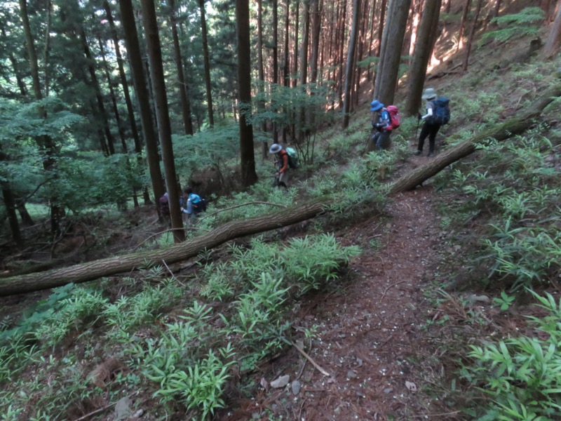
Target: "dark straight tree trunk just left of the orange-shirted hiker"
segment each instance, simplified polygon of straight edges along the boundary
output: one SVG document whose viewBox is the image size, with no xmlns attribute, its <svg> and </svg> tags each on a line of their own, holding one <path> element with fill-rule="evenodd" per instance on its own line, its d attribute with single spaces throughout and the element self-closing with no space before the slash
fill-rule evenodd
<svg viewBox="0 0 561 421">
<path fill-rule="evenodd" d="M 251 46 L 250 46 L 250 6 L 248 0 L 236 0 L 236 26 L 238 39 L 238 86 L 240 112 L 240 159 L 241 182 L 250 187 L 257 182 L 255 172 L 255 151 L 253 147 L 253 126 L 251 113 Z"/>
</svg>

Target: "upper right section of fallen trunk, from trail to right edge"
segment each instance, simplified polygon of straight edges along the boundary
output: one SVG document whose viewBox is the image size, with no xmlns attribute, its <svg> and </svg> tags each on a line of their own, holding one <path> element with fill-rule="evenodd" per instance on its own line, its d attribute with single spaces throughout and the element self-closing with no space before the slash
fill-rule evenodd
<svg viewBox="0 0 561 421">
<path fill-rule="evenodd" d="M 475 136 L 471 140 L 466 140 L 452 149 L 436 156 L 431 162 L 424 166 L 420 166 L 411 173 L 403 176 L 397 180 L 389 189 L 390 194 L 405 192 L 414 189 L 422 182 L 433 177 L 433 175 L 440 173 L 444 168 L 451 163 L 459 161 L 459 159 L 473 154 L 479 145 L 484 145 L 489 139 L 498 140 L 499 142 L 512 138 L 515 135 L 520 135 L 527 131 L 532 125 L 535 124 L 535 119 L 538 117 L 543 109 L 547 107 L 555 98 L 561 96 L 561 85 L 550 88 L 544 93 L 541 98 L 536 100 L 530 107 L 520 114 L 499 126 L 490 128 Z"/>
</svg>

